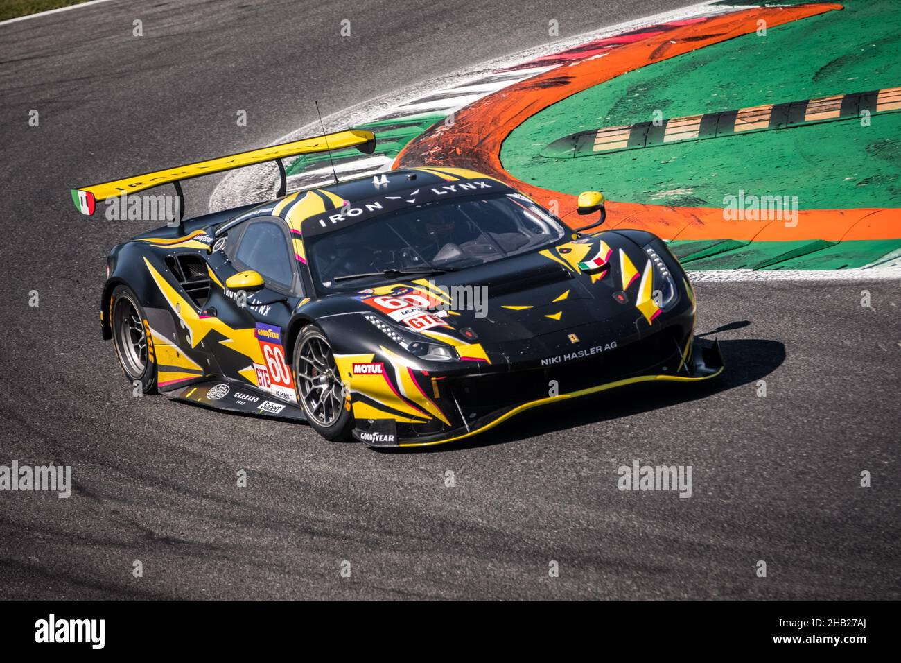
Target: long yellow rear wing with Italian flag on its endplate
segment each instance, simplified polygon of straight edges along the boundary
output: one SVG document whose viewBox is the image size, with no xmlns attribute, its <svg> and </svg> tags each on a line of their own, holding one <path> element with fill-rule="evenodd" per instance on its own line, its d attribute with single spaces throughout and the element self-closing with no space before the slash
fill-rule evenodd
<svg viewBox="0 0 901 663">
<path fill-rule="evenodd" d="M 184 195 L 181 186 L 178 184 L 181 180 L 190 180 L 202 175 L 212 175 L 215 172 L 252 166 L 257 163 L 265 163 L 266 161 L 278 162 L 278 173 L 281 176 L 278 196 L 284 196 L 287 188 L 287 175 L 285 173 L 285 165 L 281 161 L 282 159 L 300 154 L 341 150 L 347 147 L 356 147 L 360 152 L 371 154 L 376 149 L 375 134 L 362 129 L 350 129 L 335 134 L 303 138 L 291 143 L 270 145 L 259 150 L 250 150 L 250 152 L 241 152 L 207 161 L 188 163 L 175 168 L 145 172 L 143 175 L 135 175 L 123 178 L 123 180 L 102 182 L 100 184 L 92 184 L 89 187 L 72 189 L 72 202 L 75 203 L 75 207 L 79 212 L 89 216 L 94 214 L 97 200 L 117 198 L 123 193 L 137 193 L 145 189 L 159 187 L 162 184 L 172 183 L 175 184 L 176 193 L 181 202 L 179 209 L 184 209 Z"/>
</svg>

